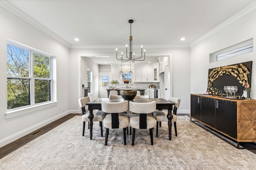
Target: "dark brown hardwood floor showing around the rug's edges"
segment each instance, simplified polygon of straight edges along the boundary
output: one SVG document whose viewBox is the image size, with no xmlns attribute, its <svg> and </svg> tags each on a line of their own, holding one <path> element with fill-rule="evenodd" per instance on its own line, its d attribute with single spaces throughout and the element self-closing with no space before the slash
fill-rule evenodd
<svg viewBox="0 0 256 170">
<path fill-rule="evenodd" d="M 68 115 L 48 124 L 48 125 L 45 125 L 44 127 L 41 127 L 40 129 L 37 129 L 36 131 L 34 131 L 20 139 L 17 139 L 16 141 L 13 141 L 12 143 L 9 143 L 8 145 L 5 145 L 4 147 L 0 148 L 0 159 L 3 158 L 4 156 L 8 155 L 9 153 L 13 152 L 14 150 L 22 147 L 26 143 L 32 141 L 33 139 L 36 139 L 40 135 L 43 135 L 44 133 L 47 133 L 48 131 L 54 129 L 58 125 L 64 123 L 65 121 L 67 121 L 68 119 L 71 119 L 72 117 L 74 117 L 76 115 L 82 115 L 82 114 L 68 114 Z M 190 117 L 189 114 L 178 114 L 178 116 L 183 116 L 183 115 L 187 115 L 188 117 Z M 250 150 L 251 152 L 256 154 L 255 149 L 248 149 L 248 150 Z"/>
</svg>

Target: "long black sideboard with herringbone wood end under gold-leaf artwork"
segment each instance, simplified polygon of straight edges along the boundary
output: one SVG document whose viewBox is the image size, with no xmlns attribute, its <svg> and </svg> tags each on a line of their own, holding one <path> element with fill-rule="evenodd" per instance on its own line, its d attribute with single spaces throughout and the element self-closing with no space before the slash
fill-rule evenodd
<svg viewBox="0 0 256 170">
<path fill-rule="evenodd" d="M 191 94 L 191 118 L 237 142 L 256 142 L 256 100 Z"/>
</svg>

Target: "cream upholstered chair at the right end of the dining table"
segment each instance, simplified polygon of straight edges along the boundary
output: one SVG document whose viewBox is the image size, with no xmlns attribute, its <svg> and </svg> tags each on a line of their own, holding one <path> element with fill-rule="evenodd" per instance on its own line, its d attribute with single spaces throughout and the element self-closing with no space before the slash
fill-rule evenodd
<svg viewBox="0 0 256 170">
<path fill-rule="evenodd" d="M 174 102 L 174 108 L 172 111 L 172 122 L 174 123 L 174 130 L 175 130 L 175 136 L 177 136 L 177 127 L 176 127 L 176 121 L 177 121 L 177 109 L 180 106 L 180 99 L 179 98 L 174 98 L 172 96 L 169 97 L 168 99 L 170 102 Z M 160 127 L 161 127 L 161 122 L 162 121 L 167 121 L 167 115 L 168 115 L 168 111 L 154 111 L 153 112 L 153 117 L 154 119 L 156 119 L 156 137 L 158 137 L 158 122 L 160 122 Z"/>
</svg>

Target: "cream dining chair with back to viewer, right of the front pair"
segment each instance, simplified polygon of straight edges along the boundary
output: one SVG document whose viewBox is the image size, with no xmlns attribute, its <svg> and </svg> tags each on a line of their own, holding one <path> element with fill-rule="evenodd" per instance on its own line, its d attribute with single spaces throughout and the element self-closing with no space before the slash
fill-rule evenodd
<svg viewBox="0 0 256 170">
<path fill-rule="evenodd" d="M 154 117 L 148 113 L 152 113 L 156 110 L 156 101 L 148 103 L 136 103 L 130 101 L 129 110 L 132 113 L 138 113 L 129 116 L 130 127 L 132 127 L 132 146 L 134 146 L 135 129 L 150 129 L 150 141 L 151 145 L 153 145 L 153 128 L 156 121 Z"/>
</svg>

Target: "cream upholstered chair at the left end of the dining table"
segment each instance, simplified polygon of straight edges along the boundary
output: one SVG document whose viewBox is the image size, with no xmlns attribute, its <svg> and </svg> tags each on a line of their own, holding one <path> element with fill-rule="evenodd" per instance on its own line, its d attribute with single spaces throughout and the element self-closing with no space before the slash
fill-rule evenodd
<svg viewBox="0 0 256 170">
<path fill-rule="evenodd" d="M 89 118 L 88 118 L 89 112 L 86 112 L 86 103 L 88 103 L 88 102 L 90 102 L 89 96 L 78 99 L 78 103 L 79 103 L 79 106 L 82 108 L 82 114 L 83 114 L 82 115 L 82 121 L 83 121 L 83 133 L 82 133 L 82 135 L 83 136 L 84 136 L 85 122 L 86 121 L 88 122 L 88 129 L 89 129 Z M 95 110 L 95 111 L 93 111 L 93 115 L 94 115 L 94 117 L 93 117 L 92 121 L 99 121 L 100 122 L 100 132 L 101 132 L 101 136 L 103 137 L 102 121 L 105 118 L 106 113 L 103 112 L 103 111 Z"/>
</svg>

